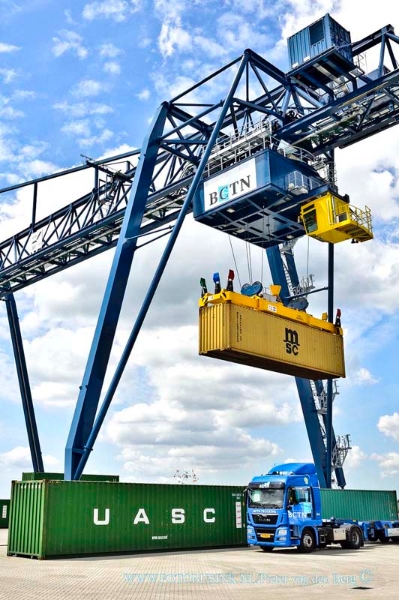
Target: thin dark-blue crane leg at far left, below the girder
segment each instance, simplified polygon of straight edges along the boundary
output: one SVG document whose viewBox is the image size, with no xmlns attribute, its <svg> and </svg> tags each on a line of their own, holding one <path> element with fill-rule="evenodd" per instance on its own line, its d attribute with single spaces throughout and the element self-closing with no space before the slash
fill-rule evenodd
<svg viewBox="0 0 399 600">
<path fill-rule="evenodd" d="M 22 342 L 17 304 L 14 294 L 5 296 L 8 323 L 10 325 L 11 341 L 17 367 L 19 389 L 21 390 L 22 407 L 24 409 L 26 431 L 28 433 L 32 466 L 35 473 L 44 473 L 42 451 L 40 449 L 39 433 L 37 431 L 35 409 L 33 408 L 32 393 L 26 367 L 25 352 Z"/>
</svg>

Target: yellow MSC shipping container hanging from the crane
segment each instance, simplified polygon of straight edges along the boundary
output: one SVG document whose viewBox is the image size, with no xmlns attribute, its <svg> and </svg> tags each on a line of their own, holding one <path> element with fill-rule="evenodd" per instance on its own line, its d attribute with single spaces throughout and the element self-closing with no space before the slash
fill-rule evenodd
<svg viewBox="0 0 399 600">
<path fill-rule="evenodd" d="M 199 353 L 305 379 L 345 377 L 343 338 L 228 303 L 199 314 Z"/>
</svg>

